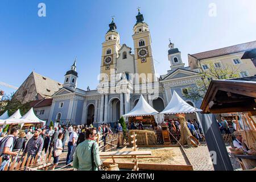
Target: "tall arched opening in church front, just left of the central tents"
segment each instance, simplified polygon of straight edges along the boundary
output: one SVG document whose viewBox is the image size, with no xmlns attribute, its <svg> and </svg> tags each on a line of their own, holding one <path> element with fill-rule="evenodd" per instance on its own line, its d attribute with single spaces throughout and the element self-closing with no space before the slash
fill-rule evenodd
<svg viewBox="0 0 256 182">
<path fill-rule="evenodd" d="M 120 100 L 118 98 L 114 98 L 109 102 L 110 110 L 109 110 L 109 121 L 117 122 L 119 121 L 120 115 Z"/>
</svg>

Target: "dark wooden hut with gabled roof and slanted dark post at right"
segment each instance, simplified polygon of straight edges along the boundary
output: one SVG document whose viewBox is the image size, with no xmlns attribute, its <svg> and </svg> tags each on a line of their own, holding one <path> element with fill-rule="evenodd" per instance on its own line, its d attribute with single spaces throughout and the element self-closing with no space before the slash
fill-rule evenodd
<svg viewBox="0 0 256 182">
<path fill-rule="evenodd" d="M 255 134 L 253 131 L 256 115 L 255 102 L 256 76 L 210 82 L 201 109 L 204 113 L 208 113 L 203 115 L 202 123 L 209 151 L 216 151 L 217 156 L 221 156 L 216 159 L 214 169 L 233 169 L 214 114 L 243 112 L 249 117 L 247 119 L 250 120 L 251 125 L 254 125 L 250 126 L 250 131 L 244 130 L 244 133 Z"/>
</svg>

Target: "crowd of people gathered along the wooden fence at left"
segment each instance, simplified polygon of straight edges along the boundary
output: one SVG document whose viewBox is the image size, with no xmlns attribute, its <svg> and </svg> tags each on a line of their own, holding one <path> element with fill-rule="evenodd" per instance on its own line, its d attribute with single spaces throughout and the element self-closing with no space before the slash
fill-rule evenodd
<svg viewBox="0 0 256 182">
<path fill-rule="evenodd" d="M 94 132 L 95 131 L 95 132 Z M 84 164 L 78 164 L 77 160 L 81 160 L 80 155 L 88 155 L 87 158 L 82 157 L 84 161 L 89 160 L 92 156 L 91 154 L 87 154 L 86 152 L 82 152 L 81 147 L 92 148 L 95 154 L 96 165 L 99 164 L 99 156 L 98 156 L 98 144 L 94 144 L 93 140 L 96 135 L 100 138 L 100 140 L 106 143 L 106 138 L 108 135 L 113 134 L 114 132 L 122 131 L 122 126 L 120 123 L 117 123 L 116 127 L 112 129 L 109 124 L 102 123 L 102 125 L 98 126 L 98 128 L 94 128 L 93 125 L 68 125 L 68 126 L 57 126 L 54 127 L 46 127 L 37 128 L 35 126 L 31 126 L 30 128 L 20 131 L 18 126 L 11 127 L 9 129 L 9 135 L 3 132 L 2 127 L 0 127 L 0 156 L 3 157 L 3 162 L 1 164 L 0 170 L 3 170 L 6 164 L 14 161 L 22 159 L 24 155 L 28 155 L 32 158 L 35 158 L 37 154 L 42 156 L 42 151 L 46 155 L 52 152 L 53 157 L 53 165 L 51 169 L 55 169 L 57 164 L 59 163 L 59 156 L 64 152 L 64 146 L 67 143 L 68 152 L 66 158 L 66 165 L 71 166 L 73 162 L 74 167 L 78 167 L 79 169 L 85 169 Z M 85 142 L 85 140 L 88 140 Z M 90 141 L 89 141 L 90 140 Z M 22 155 L 20 155 L 22 152 Z M 94 169 L 90 168 L 90 169 Z M 89 169 L 89 166 L 86 166 L 86 169 Z"/>
</svg>

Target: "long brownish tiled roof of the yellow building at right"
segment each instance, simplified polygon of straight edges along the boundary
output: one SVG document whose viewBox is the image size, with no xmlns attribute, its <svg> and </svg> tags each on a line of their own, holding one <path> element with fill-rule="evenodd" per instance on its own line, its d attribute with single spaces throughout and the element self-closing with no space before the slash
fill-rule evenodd
<svg viewBox="0 0 256 182">
<path fill-rule="evenodd" d="M 224 47 L 224 48 L 215 49 L 212 51 L 195 53 L 192 56 L 196 57 L 196 59 L 202 60 L 202 59 L 207 59 L 210 57 L 217 57 L 217 56 L 229 55 L 231 53 L 248 51 L 248 50 L 254 49 L 254 48 L 256 48 L 256 40 L 253 42 L 247 42 L 247 43 L 238 44 L 235 46 Z"/>
</svg>

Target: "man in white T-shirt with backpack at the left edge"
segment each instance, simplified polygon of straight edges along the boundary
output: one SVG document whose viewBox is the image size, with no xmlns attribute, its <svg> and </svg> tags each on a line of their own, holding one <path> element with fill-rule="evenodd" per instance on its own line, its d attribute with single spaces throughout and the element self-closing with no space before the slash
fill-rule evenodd
<svg viewBox="0 0 256 182">
<path fill-rule="evenodd" d="M 10 163 L 10 157 L 18 155 L 18 152 L 13 152 L 13 146 L 15 138 L 19 134 L 19 127 L 15 126 L 11 128 L 10 135 L 5 137 L 0 142 L 0 156 L 2 157 L 2 164 L 0 166 L 0 171 L 5 169 L 6 165 Z"/>
</svg>

